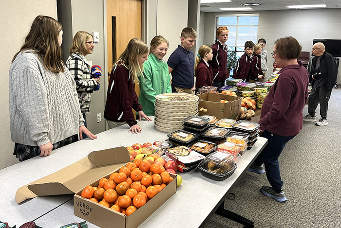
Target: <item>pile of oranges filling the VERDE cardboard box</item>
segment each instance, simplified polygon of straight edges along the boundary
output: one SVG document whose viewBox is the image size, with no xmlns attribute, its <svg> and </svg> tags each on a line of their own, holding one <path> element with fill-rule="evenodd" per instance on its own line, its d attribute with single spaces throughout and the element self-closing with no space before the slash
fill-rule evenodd
<svg viewBox="0 0 341 228">
<path fill-rule="evenodd" d="M 129 216 L 172 180 L 163 166 L 135 159 L 109 179 L 100 179 L 97 187 L 86 186 L 81 196 Z"/>
</svg>

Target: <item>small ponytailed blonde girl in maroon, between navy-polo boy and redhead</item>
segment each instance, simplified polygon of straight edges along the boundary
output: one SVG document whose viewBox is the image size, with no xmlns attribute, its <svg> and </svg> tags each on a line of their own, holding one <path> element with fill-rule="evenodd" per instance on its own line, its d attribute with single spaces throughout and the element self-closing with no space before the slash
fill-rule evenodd
<svg viewBox="0 0 341 228">
<path fill-rule="evenodd" d="M 208 64 L 208 61 L 212 60 L 212 57 L 211 47 L 203 45 L 199 48 L 194 66 L 196 92 L 198 92 L 198 88 L 203 86 L 213 86 L 212 67 Z"/>
</svg>

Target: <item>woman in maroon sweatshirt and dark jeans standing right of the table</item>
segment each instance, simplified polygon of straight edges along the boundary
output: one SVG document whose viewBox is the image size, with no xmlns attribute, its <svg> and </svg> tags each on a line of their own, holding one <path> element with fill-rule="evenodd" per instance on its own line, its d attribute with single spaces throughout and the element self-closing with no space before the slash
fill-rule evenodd
<svg viewBox="0 0 341 228">
<path fill-rule="evenodd" d="M 279 202 L 286 201 L 286 197 L 282 190 L 278 157 L 285 144 L 302 129 L 302 111 L 308 98 L 309 75 L 297 60 L 301 50 L 301 45 L 292 36 L 280 38 L 275 42 L 271 54 L 282 70 L 264 100 L 261 119 L 258 122 L 259 129 L 264 131 L 262 137 L 265 137 L 268 143 L 248 169 L 257 174 L 264 174 L 266 171 L 271 187 L 263 186 L 261 191 Z"/>
</svg>

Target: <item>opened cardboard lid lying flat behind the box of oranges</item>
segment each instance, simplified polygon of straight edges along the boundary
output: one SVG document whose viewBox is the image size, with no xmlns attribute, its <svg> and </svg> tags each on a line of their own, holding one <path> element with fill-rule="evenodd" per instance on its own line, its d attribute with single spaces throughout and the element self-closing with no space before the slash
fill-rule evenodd
<svg viewBox="0 0 341 228">
<path fill-rule="evenodd" d="M 110 175 L 127 162 L 130 162 L 130 157 L 123 146 L 93 151 L 56 173 L 20 187 L 16 193 L 16 201 L 19 204 L 37 196 L 77 193 L 89 183 Z"/>
</svg>

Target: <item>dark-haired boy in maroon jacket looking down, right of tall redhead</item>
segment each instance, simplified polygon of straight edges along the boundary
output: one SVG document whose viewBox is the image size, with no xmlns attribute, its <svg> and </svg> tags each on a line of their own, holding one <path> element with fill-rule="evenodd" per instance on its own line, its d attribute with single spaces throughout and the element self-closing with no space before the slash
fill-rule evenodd
<svg viewBox="0 0 341 228">
<path fill-rule="evenodd" d="M 246 78 L 250 77 L 252 53 L 254 46 L 255 45 L 251 40 L 245 42 L 245 53 L 238 59 L 237 68 L 233 72 L 232 78 L 246 80 Z"/>
</svg>

